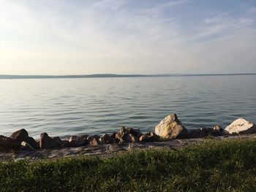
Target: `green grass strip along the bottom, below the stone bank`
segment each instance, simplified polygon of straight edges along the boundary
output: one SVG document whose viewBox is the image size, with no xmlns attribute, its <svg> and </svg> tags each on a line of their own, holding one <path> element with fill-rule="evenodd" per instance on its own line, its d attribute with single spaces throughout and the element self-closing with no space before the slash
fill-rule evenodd
<svg viewBox="0 0 256 192">
<path fill-rule="evenodd" d="M 0 191 L 256 191 L 256 139 L 0 163 Z"/>
</svg>

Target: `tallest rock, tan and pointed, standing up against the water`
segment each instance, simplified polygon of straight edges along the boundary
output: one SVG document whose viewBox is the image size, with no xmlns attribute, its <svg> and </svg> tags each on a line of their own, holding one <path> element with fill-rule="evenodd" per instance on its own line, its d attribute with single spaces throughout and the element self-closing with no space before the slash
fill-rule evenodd
<svg viewBox="0 0 256 192">
<path fill-rule="evenodd" d="M 187 128 L 178 120 L 176 114 L 170 114 L 155 127 L 155 133 L 165 139 L 188 138 Z"/>
</svg>

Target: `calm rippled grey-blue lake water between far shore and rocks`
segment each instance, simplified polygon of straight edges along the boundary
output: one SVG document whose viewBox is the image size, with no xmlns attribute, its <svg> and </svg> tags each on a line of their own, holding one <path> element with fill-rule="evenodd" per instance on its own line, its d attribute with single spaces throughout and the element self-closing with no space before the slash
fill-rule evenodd
<svg viewBox="0 0 256 192">
<path fill-rule="evenodd" d="M 0 134 L 154 130 L 171 112 L 187 128 L 256 123 L 256 75 L 0 80 Z"/>
</svg>

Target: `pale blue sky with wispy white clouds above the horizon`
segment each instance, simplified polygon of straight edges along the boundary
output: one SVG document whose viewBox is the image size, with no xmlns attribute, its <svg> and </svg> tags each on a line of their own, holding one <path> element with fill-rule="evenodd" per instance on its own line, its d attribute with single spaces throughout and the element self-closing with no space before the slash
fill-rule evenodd
<svg viewBox="0 0 256 192">
<path fill-rule="evenodd" d="M 0 74 L 256 72 L 256 0 L 0 0 Z"/>
</svg>

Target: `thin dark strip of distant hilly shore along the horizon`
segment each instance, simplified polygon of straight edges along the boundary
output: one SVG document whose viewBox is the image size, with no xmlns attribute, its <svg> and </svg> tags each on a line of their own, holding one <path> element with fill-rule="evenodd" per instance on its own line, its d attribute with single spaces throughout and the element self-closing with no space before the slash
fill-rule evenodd
<svg viewBox="0 0 256 192">
<path fill-rule="evenodd" d="M 241 74 L 75 74 L 75 75 L 12 75 L 0 74 L 0 79 L 74 79 L 74 78 L 113 78 L 113 77 L 191 77 L 191 76 L 227 76 L 255 75 L 256 73 Z"/>
</svg>

